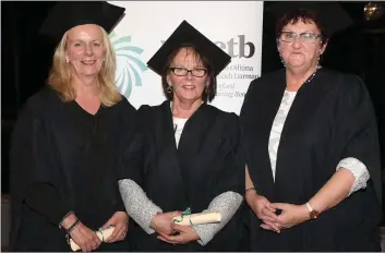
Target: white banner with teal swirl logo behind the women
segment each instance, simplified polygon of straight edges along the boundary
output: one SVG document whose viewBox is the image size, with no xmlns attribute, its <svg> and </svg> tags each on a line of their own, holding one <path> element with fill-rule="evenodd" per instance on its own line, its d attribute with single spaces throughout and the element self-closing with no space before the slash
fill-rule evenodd
<svg viewBox="0 0 385 253">
<path fill-rule="evenodd" d="M 109 1 L 125 15 L 110 34 L 117 53 L 117 86 L 139 108 L 166 98 L 160 76 L 146 62 L 185 20 L 231 56 L 217 77 L 212 105 L 239 113 L 250 82 L 261 74 L 262 1 Z"/>
</svg>

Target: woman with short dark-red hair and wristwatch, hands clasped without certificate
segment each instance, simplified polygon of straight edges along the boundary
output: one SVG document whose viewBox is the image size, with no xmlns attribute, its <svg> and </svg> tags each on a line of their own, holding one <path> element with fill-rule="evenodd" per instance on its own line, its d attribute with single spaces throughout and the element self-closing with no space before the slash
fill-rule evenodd
<svg viewBox="0 0 385 253">
<path fill-rule="evenodd" d="M 320 67 L 346 27 L 337 3 L 279 3 L 284 70 L 254 80 L 241 110 L 252 251 L 380 251 L 376 120 L 364 83 Z"/>
</svg>

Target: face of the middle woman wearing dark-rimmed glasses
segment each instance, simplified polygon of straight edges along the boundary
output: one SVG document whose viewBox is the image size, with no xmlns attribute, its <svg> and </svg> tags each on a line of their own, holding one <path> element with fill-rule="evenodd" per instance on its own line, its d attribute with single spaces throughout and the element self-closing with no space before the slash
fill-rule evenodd
<svg viewBox="0 0 385 253">
<path fill-rule="evenodd" d="M 191 48 L 181 48 L 170 64 L 166 80 L 173 88 L 173 99 L 195 101 L 208 86 L 206 68 Z M 172 71 L 172 68 L 173 71 Z M 191 70 L 185 74 L 185 70 Z M 185 74 L 185 75 L 184 75 Z M 195 75 L 195 76 L 194 76 Z"/>
</svg>

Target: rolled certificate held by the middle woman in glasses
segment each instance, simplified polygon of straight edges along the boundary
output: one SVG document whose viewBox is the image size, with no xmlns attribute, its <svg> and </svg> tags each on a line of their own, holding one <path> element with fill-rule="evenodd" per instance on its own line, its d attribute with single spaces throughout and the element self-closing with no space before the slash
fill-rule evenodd
<svg viewBox="0 0 385 253">
<path fill-rule="evenodd" d="M 182 226 L 193 226 L 200 224 L 215 224 L 220 222 L 220 214 L 218 212 L 207 212 L 198 214 L 182 214 L 173 217 L 173 222 Z"/>
</svg>

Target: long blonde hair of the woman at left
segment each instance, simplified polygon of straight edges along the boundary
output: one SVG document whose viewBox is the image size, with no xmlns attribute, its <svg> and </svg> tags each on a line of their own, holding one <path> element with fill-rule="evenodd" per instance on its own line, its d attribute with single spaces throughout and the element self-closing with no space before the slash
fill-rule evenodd
<svg viewBox="0 0 385 253">
<path fill-rule="evenodd" d="M 100 27 L 100 26 L 99 26 Z M 105 60 L 100 72 L 98 73 L 98 83 L 100 86 L 100 101 L 104 106 L 110 107 L 122 99 L 122 95 L 115 86 L 116 55 L 112 44 L 109 40 L 106 31 L 100 27 L 103 34 L 103 44 L 106 48 Z M 76 92 L 71 85 L 71 73 L 69 63 L 65 62 L 65 46 L 68 33 L 63 35 L 59 45 L 55 49 L 52 67 L 47 80 L 48 85 L 56 89 L 64 101 L 71 101 L 76 98 Z"/>
</svg>

